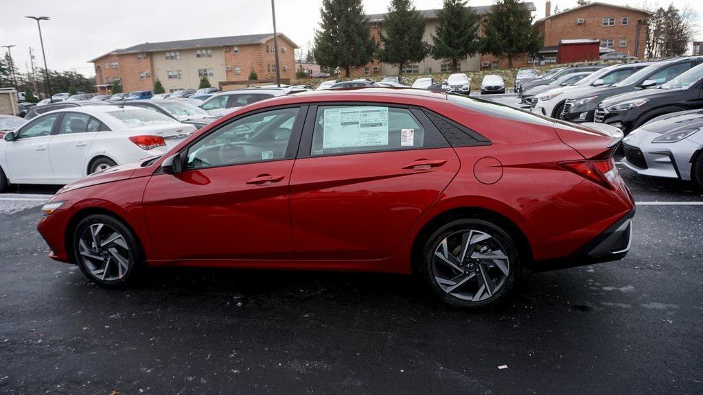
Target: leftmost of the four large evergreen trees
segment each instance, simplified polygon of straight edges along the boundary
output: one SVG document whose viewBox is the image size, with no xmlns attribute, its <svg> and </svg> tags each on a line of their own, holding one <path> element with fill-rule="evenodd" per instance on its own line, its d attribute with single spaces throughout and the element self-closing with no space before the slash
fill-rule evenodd
<svg viewBox="0 0 703 395">
<path fill-rule="evenodd" d="M 364 23 L 361 0 L 323 0 L 322 21 L 315 30 L 313 56 L 319 65 L 344 69 L 363 67 L 373 59 L 376 43 Z"/>
</svg>

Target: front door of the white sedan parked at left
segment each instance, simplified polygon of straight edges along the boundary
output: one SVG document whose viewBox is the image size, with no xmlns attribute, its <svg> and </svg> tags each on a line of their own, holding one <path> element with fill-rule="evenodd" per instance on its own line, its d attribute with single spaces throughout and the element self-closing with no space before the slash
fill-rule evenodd
<svg viewBox="0 0 703 395">
<path fill-rule="evenodd" d="M 17 131 L 5 151 L 8 176 L 13 183 L 53 183 L 49 162 L 51 131 L 60 114 L 43 115 Z"/>
</svg>

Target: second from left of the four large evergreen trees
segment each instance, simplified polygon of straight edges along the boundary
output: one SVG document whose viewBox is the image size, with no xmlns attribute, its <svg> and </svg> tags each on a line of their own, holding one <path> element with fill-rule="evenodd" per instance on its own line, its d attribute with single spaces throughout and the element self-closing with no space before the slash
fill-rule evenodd
<svg viewBox="0 0 703 395">
<path fill-rule="evenodd" d="M 378 59 L 398 67 L 400 77 L 404 65 L 418 63 L 430 52 L 430 44 L 423 41 L 425 18 L 415 10 L 412 0 L 391 0 L 384 23 Z"/>
</svg>

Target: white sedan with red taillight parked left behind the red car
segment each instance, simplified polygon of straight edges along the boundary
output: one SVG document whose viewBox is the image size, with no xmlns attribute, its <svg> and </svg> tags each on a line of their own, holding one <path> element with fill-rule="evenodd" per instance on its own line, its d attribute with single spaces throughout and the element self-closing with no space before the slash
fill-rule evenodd
<svg viewBox="0 0 703 395">
<path fill-rule="evenodd" d="M 117 164 L 167 153 L 195 126 L 117 105 L 46 112 L 0 141 L 0 190 L 10 183 L 63 185 Z"/>
</svg>

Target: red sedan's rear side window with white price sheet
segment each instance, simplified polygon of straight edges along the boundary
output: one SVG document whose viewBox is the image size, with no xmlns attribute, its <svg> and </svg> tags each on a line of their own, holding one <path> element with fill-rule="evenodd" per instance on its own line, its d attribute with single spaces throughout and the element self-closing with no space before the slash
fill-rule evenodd
<svg viewBox="0 0 703 395">
<path fill-rule="evenodd" d="M 382 105 L 321 106 L 317 110 L 311 155 L 371 153 L 446 146 L 407 108 Z"/>
</svg>

